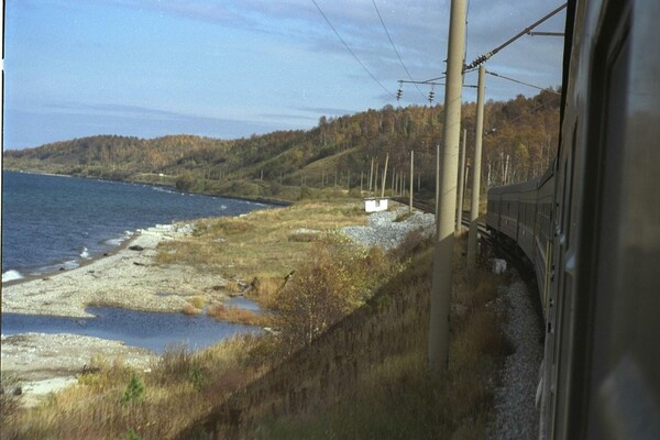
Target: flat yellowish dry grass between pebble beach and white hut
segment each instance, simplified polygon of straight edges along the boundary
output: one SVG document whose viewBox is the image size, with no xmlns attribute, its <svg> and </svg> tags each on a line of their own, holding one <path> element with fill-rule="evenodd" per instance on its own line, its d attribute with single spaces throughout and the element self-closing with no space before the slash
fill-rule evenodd
<svg viewBox="0 0 660 440">
<path fill-rule="evenodd" d="M 199 220 L 194 237 L 163 242 L 160 264 L 186 264 L 218 272 L 226 278 L 284 277 L 306 261 L 314 240 L 290 240 L 299 229 L 332 231 L 364 224 L 356 201 L 305 201 L 254 211 L 240 218 Z"/>
</svg>

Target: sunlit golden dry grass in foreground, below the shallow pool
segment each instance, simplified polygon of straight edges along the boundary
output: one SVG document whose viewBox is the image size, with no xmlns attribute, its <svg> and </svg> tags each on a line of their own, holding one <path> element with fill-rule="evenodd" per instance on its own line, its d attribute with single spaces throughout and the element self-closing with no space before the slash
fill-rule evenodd
<svg viewBox="0 0 660 440">
<path fill-rule="evenodd" d="M 148 374 L 97 358 L 91 363 L 95 373 L 81 374 L 78 386 L 11 419 L 3 417 L 0 435 L 3 439 L 123 439 L 132 431 L 142 439 L 173 438 L 218 399 L 261 374 L 263 366 L 250 356 L 260 346 L 262 342 L 253 337 L 239 337 L 200 353 L 172 348 Z M 140 398 L 123 398 L 131 383 L 144 386 Z"/>
</svg>

